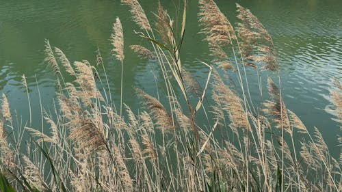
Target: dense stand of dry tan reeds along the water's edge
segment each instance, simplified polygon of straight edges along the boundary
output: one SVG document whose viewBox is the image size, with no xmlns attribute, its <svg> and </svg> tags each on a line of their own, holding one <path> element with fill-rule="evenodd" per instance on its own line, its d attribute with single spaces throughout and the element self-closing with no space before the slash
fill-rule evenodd
<svg viewBox="0 0 342 192">
<path fill-rule="evenodd" d="M 135 33 L 150 46 L 124 44 L 124 23 L 116 18 L 110 43 L 121 64 L 120 104 L 111 98 L 111 74 L 105 73 L 105 81 L 98 77 L 96 68 L 105 72 L 99 50 L 94 65 L 70 62 L 46 40 L 57 85 L 55 111 L 47 113 L 40 102 L 49 126 L 31 128 L 29 101 L 30 119 L 23 126 L 2 95 L 0 191 L 342 190 L 342 154 L 334 159 L 319 130 L 309 133 L 282 100 L 274 42 L 250 10 L 236 4 L 234 27 L 213 0 L 199 0 L 202 30 L 194 35 L 205 36 L 212 61 L 198 61 L 208 68 L 207 79 L 198 81 L 181 60 L 187 1 L 179 7 L 179 20 L 160 2 L 155 18 L 147 18 L 137 0 L 121 2 L 140 27 Z M 142 102 L 137 113 L 122 99 L 124 46 L 156 60 L 165 84 L 156 97 L 135 88 Z M 250 94 L 246 68 L 255 70 L 259 94 L 267 86 L 267 100 L 257 103 Z M 272 74 L 267 85 L 261 84 L 263 73 Z M 25 75 L 22 80 L 29 100 Z M 330 95 L 342 124 L 342 87 L 339 81 L 334 85 Z M 198 124 L 198 113 L 210 127 Z M 297 137 L 307 139 L 295 143 Z"/>
</svg>

